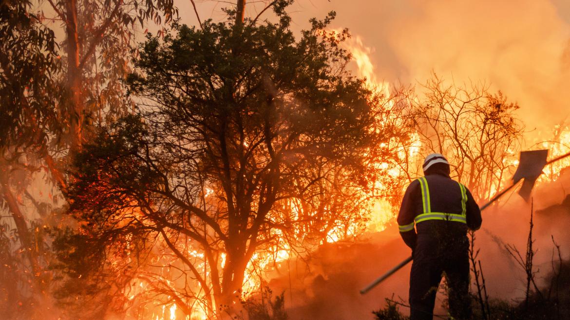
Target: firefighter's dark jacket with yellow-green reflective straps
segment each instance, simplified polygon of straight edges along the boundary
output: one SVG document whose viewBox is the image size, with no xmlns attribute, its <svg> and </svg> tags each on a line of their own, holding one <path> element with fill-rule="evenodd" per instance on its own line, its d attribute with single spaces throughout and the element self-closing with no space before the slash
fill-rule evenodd
<svg viewBox="0 0 570 320">
<path fill-rule="evenodd" d="M 402 239 L 413 250 L 418 235 L 429 236 L 440 229 L 442 220 L 451 221 L 445 229 L 454 235 L 465 235 L 468 228 L 477 230 L 482 222 L 471 192 L 447 173 L 435 171 L 410 183 L 397 221 Z"/>
</svg>

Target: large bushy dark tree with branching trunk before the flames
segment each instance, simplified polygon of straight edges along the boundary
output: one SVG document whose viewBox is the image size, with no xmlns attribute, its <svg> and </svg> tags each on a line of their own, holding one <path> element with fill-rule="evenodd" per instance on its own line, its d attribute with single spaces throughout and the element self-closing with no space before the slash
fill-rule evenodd
<svg viewBox="0 0 570 320">
<path fill-rule="evenodd" d="M 149 36 L 128 79 L 139 113 L 101 128 L 75 159 L 68 196 L 80 232 L 108 249 L 138 241 L 174 256 L 194 280 L 166 290 L 181 309 L 188 298 L 230 305 L 260 248 L 323 239 L 367 212 L 385 105 L 347 71 L 347 33 L 325 30 L 334 13 L 299 39 L 276 13 L 277 23 L 175 23 Z"/>
</svg>

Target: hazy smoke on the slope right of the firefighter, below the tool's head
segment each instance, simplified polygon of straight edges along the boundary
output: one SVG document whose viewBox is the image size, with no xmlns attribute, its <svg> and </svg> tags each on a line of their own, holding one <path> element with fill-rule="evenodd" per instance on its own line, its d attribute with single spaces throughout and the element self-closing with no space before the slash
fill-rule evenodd
<svg viewBox="0 0 570 320">
<path fill-rule="evenodd" d="M 540 285 L 557 267 L 558 254 L 553 240 L 560 245 L 563 260 L 570 259 L 570 203 L 567 190 L 570 187 L 568 170 L 554 182 L 540 184 L 532 196 L 534 205 L 533 247 L 536 251 L 534 266 Z M 498 206 L 484 212 L 482 231 L 477 232 L 477 247 L 492 297 L 520 298 L 524 294 L 526 275 L 505 249 L 515 245 L 524 257 L 530 229 L 531 203 L 524 203 L 518 195 L 505 199 Z"/>
</svg>

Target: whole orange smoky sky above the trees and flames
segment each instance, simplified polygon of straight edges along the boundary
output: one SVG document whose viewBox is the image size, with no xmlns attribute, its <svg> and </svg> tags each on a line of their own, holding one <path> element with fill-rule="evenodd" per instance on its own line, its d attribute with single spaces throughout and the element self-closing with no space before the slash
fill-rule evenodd
<svg viewBox="0 0 570 320">
<path fill-rule="evenodd" d="M 183 23 L 196 24 L 190 1 L 175 4 Z M 196 4 L 201 19 L 214 21 L 225 19 L 221 8 L 230 6 Z M 246 15 L 255 17 L 262 7 L 251 1 Z M 570 116 L 567 0 L 298 0 L 288 11 L 301 30 L 311 17 L 332 10 L 332 28 L 349 28 L 370 49 L 376 79 L 419 85 L 435 72 L 456 84 L 484 81 L 518 102 L 520 118 L 534 133 L 549 132 Z"/>
</svg>

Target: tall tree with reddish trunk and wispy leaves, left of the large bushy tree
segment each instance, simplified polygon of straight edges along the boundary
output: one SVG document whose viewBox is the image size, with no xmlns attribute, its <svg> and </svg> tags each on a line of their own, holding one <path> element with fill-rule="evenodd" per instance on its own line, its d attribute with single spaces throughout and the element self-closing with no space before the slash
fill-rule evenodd
<svg viewBox="0 0 570 320">
<path fill-rule="evenodd" d="M 60 112 L 66 140 L 77 147 L 87 139 L 84 126 L 114 120 L 129 105 L 122 80 L 129 72 L 136 25 L 176 18 L 173 0 L 48 0 L 64 30 L 63 88 Z"/>
</svg>

